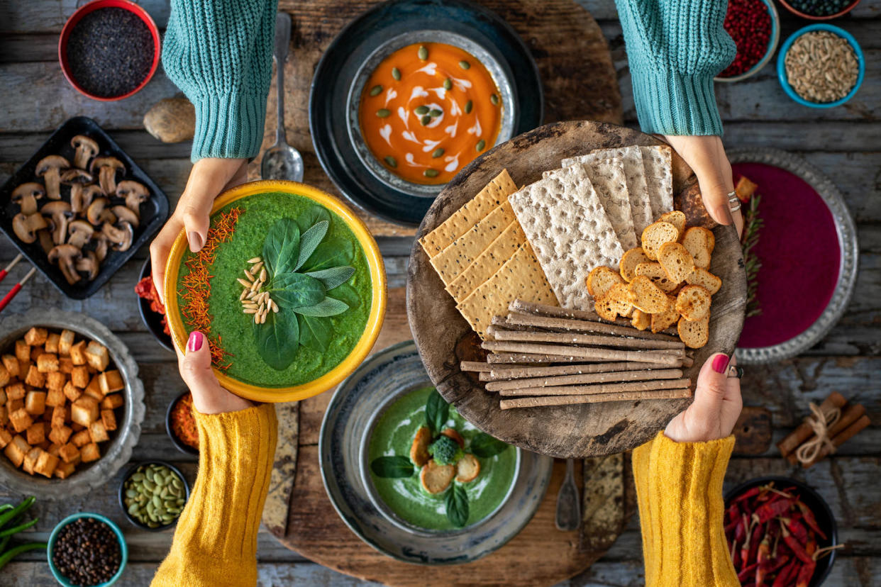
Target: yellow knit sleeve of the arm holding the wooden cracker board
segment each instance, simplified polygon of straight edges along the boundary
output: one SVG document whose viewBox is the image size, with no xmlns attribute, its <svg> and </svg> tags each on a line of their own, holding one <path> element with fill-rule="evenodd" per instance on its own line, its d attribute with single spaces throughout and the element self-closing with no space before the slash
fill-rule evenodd
<svg viewBox="0 0 881 587">
<path fill-rule="evenodd" d="M 677 443 L 660 432 L 633 451 L 647 587 L 739 587 L 722 527 L 734 437 Z"/>
</svg>

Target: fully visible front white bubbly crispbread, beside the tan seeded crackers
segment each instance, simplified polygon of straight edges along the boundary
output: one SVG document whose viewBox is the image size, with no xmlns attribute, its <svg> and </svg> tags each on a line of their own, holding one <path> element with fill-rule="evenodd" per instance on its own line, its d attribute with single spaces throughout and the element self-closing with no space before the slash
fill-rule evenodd
<svg viewBox="0 0 881 587">
<path fill-rule="evenodd" d="M 566 167 L 508 196 L 559 304 L 593 309 L 585 279 L 618 267 L 624 249 L 581 165 Z"/>
</svg>

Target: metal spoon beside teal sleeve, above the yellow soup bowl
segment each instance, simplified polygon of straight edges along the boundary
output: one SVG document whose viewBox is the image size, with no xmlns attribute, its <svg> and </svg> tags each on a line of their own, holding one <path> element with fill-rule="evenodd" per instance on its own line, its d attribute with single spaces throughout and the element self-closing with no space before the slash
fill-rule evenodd
<svg viewBox="0 0 881 587">
<path fill-rule="evenodd" d="M 260 175 L 263 180 L 303 180 L 303 156 L 285 140 L 285 61 L 291 44 L 291 15 L 276 15 L 275 62 L 277 70 L 276 97 L 278 102 L 278 128 L 276 142 L 263 153 Z"/>
</svg>

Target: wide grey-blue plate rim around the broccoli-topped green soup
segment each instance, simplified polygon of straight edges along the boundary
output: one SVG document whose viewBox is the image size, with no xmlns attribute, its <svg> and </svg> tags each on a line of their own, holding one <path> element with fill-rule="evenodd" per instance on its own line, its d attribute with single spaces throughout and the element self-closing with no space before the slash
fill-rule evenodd
<svg viewBox="0 0 881 587">
<path fill-rule="evenodd" d="M 519 451 L 517 473 L 506 500 L 491 516 L 456 531 L 417 530 L 396 520 L 372 496 L 363 466 L 366 431 L 383 407 L 404 392 L 431 385 L 412 341 L 369 357 L 330 399 L 319 438 L 324 488 L 352 532 L 399 561 L 424 565 L 476 561 L 502 547 L 529 523 L 551 480 L 553 459 Z"/>
</svg>

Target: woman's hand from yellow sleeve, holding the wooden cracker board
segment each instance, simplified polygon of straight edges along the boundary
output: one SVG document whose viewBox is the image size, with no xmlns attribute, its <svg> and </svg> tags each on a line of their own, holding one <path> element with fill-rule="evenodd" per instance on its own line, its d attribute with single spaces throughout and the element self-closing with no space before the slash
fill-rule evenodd
<svg viewBox="0 0 881 587">
<path fill-rule="evenodd" d="M 664 434 L 677 443 L 703 443 L 728 437 L 743 406 L 737 361 L 732 356 L 729 363 L 727 355 L 716 353 L 700 370 L 692 405 L 670 420 Z"/>
</svg>

